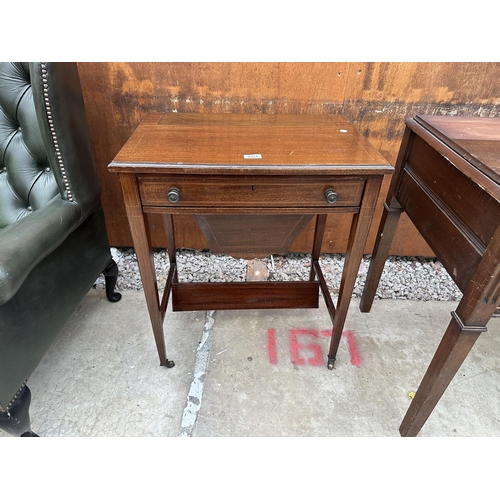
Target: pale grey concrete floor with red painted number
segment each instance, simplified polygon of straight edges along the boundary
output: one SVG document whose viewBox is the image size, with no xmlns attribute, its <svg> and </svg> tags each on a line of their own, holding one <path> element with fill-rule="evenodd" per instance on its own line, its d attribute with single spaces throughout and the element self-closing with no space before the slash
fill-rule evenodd
<svg viewBox="0 0 500 500">
<path fill-rule="evenodd" d="M 454 302 L 353 300 L 333 371 L 319 309 L 167 313 L 159 366 L 142 292 L 91 290 L 29 380 L 41 436 L 396 437 Z M 492 319 L 419 436 L 500 436 Z M 275 350 L 273 350 L 273 339 Z M 0 436 L 7 437 L 0 431 Z"/>
</svg>

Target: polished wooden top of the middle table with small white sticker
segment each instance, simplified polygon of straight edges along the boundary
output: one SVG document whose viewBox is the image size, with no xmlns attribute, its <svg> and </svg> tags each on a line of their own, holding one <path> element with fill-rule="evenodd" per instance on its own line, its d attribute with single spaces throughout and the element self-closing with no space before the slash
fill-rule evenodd
<svg viewBox="0 0 500 500">
<path fill-rule="evenodd" d="M 287 175 L 393 171 L 342 115 L 151 113 L 109 170 L 139 172 L 141 166 L 172 174 L 193 173 L 194 167 L 196 173 L 259 175 L 280 167 Z"/>
</svg>

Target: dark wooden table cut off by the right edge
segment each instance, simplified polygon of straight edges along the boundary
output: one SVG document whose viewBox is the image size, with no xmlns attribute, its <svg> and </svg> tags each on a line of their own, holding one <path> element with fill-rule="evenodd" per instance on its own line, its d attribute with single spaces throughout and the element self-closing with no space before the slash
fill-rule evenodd
<svg viewBox="0 0 500 500">
<path fill-rule="evenodd" d="M 403 210 L 463 293 L 400 427 L 402 436 L 416 436 L 500 302 L 500 119 L 407 120 L 363 312 L 372 306 Z"/>
</svg>

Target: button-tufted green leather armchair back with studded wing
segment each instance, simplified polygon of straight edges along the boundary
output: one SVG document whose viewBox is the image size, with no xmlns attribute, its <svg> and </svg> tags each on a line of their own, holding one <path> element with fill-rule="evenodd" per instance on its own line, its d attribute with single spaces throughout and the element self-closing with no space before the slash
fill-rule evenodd
<svg viewBox="0 0 500 500">
<path fill-rule="evenodd" d="M 0 234 L 54 198 L 99 206 L 76 63 L 0 63 Z"/>
</svg>

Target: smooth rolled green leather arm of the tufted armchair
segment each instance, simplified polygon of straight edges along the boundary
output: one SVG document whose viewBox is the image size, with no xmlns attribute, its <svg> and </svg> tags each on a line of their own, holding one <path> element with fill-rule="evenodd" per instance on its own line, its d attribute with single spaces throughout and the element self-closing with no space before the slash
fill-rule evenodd
<svg viewBox="0 0 500 500">
<path fill-rule="evenodd" d="M 77 203 L 56 197 L 0 229 L 0 305 L 9 301 L 32 269 L 68 237 L 80 217 Z"/>
</svg>

